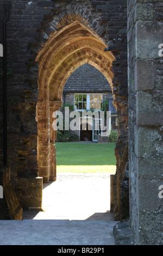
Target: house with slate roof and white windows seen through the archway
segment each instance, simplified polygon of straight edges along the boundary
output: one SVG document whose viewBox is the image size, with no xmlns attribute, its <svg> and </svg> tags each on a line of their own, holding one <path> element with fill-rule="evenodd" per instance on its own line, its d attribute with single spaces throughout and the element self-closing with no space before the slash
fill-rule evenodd
<svg viewBox="0 0 163 256">
<path fill-rule="evenodd" d="M 104 111 L 104 109 L 105 111 L 111 112 L 110 125 L 112 130 L 117 129 L 117 111 L 112 105 L 113 98 L 110 84 L 104 75 L 92 65 L 86 63 L 76 69 L 72 75 L 68 77 L 62 93 L 62 100 L 63 106 L 68 106 L 68 104 L 74 106 L 74 110 L 80 112 L 81 115 L 83 111 L 89 111 L 91 108 L 93 111 L 98 111 L 99 119 L 96 118 L 95 120 L 93 117 L 89 119 L 81 117 L 80 129 L 78 131 L 71 131 L 72 135 L 77 135 L 80 141 L 88 140 L 98 142 L 98 135 L 102 135 L 100 127 L 100 120 L 102 119 L 100 119 L 99 112 Z M 106 120 L 103 121 L 106 122 Z M 86 123 L 85 129 L 82 129 L 82 123 Z M 93 129 L 93 124 L 94 127 L 95 125 L 98 126 L 96 130 Z M 108 133 L 107 129 L 106 132 Z M 106 137 L 105 141 L 107 141 L 107 138 L 108 137 Z"/>
</svg>

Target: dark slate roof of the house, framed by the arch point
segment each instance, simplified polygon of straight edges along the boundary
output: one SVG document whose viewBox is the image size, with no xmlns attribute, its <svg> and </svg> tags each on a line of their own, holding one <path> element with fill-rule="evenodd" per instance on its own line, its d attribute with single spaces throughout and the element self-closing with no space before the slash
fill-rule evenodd
<svg viewBox="0 0 163 256">
<path fill-rule="evenodd" d="M 67 79 L 64 92 L 111 92 L 111 87 L 99 70 L 86 63 L 76 69 Z"/>
</svg>

